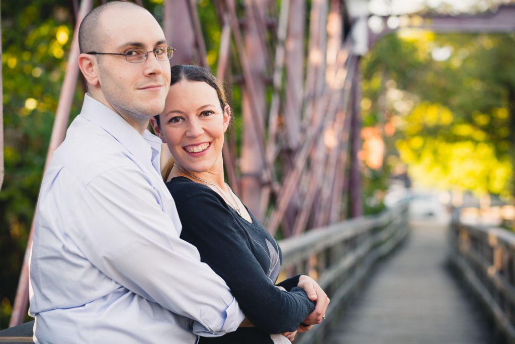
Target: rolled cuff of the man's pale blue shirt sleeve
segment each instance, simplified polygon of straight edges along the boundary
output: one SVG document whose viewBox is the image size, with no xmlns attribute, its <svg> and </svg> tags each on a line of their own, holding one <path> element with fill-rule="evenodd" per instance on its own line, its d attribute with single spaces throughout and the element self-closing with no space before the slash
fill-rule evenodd
<svg viewBox="0 0 515 344">
<path fill-rule="evenodd" d="M 202 311 L 200 315 L 202 322 L 208 323 L 210 328 L 208 329 L 200 322 L 194 321 L 193 333 L 202 337 L 223 336 L 228 332 L 236 331 L 243 319 L 245 319 L 245 314 L 243 314 L 242 310 L 239 308 L 235 298 L 233 298 L 232 303 L 226 308 L 224 315 L 213 317 L 212 312 L 210 313 L 211 317 L 205 317 Z"/>
</svg>

